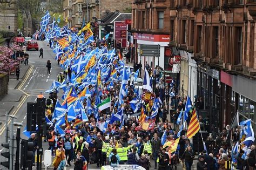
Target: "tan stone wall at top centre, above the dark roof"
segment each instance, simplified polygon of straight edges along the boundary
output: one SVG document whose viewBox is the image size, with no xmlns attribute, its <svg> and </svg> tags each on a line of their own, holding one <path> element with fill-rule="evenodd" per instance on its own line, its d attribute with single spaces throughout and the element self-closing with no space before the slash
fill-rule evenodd
<svg viewBox="0 0 256 170">
<path fill-rule="evenodd" d="M 124 12 L 126 8 L 131 7 L 131 0 L 102 0 L 100 2 L 100 18 L 106 15 L 106 11 L 114 12 L 118 10 L 119 12 Z"/>
</svg>

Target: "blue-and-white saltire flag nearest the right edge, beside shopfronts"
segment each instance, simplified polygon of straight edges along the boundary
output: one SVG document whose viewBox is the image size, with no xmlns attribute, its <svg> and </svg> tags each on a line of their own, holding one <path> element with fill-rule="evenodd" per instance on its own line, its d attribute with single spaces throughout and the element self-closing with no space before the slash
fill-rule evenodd
<svg viewBox="0 0 256 170">
<path fill-rule="evenodd" d="M 243 151 L 246 151 L 248 147 L 253 144 L 254 141 L 254 132 L 252 128 L 251 119 L 240 122 L 240 145 Z"/>
</svg>

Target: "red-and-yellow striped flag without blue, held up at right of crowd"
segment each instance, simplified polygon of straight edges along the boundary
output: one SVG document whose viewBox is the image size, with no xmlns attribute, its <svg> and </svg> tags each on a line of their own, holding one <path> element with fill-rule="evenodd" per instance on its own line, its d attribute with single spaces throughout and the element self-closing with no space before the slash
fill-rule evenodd
<svg viewBox="0 0 256 170">
<path fill-rule="evenodd" d="M 194 111 L 192 113 L 192 117 L 190 120 L 190 125 L 187 128 L 187 138 L 192 138 L 200 129 L 199 121 L 197 118 L 197 111 L 196 108 L 194 108 Z"/>
</svg>

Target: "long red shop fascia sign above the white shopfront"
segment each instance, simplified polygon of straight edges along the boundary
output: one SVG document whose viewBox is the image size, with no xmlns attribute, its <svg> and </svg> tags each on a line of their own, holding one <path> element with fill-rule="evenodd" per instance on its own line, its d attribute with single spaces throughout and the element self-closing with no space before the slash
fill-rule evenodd
<svg viewBox="0 0 256 170">
<path fill-rule="evenodd" d="M 170 42 L 170 35 L 153 35 L 149 33 L 133 33 L 134 39 L 150 42 Z"/>
</svg>

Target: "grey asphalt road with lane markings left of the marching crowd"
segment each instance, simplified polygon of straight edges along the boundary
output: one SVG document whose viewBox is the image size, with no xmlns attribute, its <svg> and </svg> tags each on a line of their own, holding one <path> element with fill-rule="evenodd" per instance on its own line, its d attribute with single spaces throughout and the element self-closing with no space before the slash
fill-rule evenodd
<svg viewBox="0 0 256 170">
<path fill-rule="evenodd" d="M 47 46 L 46 42 L 38 41 L 39 48 L 43 47 L 44 54 L 43 59 L 38 58 L 39 52 L 38 51 L 27 51 L 29 54 L 29 65 L 31 65 L 26 72 L 23 80 L 19 82 L 15 89 L 9 89 L 9 94 L 21 96 L 20 99 L 17 101 L 10 103 L 14 104 L 14 109 L 10 114 L 16 115 L 17 119 L 15 122 L 22 123 L 23 127 L 21 127 L 21 132 L 24 130 L 24 126 L 26 126 L 26 105 L 28 102 L 35 102 L 36 96 L 43 92 L 45 98 L 48 98 L 48 94 L 44 93 L 44 91 L 48 90 L 51 86 L 53 80 L 57 80 L 57 75 L 59 72 L 63 70 L 57 65 L 55 61 L 55 55 L 52 50 Z M 47 60 L 51 61 L 52 70 L 50 74 L 47 74 L 46 62 Z M 10 124 L 10 121 L 8 121 Z M 8 125 L 9 125 L 8 124 Z M 9 125 L 10 127 L 10 125 Z M 17 127 L 14 127 L 14 133 L 16 133 Z M 22 139 L 28 139 L 25 137 L 23 133 L 21 133 Z M 5 142 L 5 126 L 0 126 L 0 142 Z M 16 142 L 15 142 L 16 146 Z M 48 149 L 48 142 L 43 142 L 43 149 Z M 0 146 L 0 152 L 4 152 L 2 146 Z M 14 152 L 15 153 L 15 152 Z M 53 160 L 53 157 L 52 157 Z M 0 161 L 4 161 L 4 157 L 0 157 Z M 71 162 L 72 163 L 72 162 Z M 153 166 L 153 161 L 151 161 L 151 165 Z M 44 168 L 44 165 L 42 165 Z M 3 166 L 0 165 L 0 170 L 5 169 Z M 89 167 L 90 169 L 100 169 L 96 168 L 96 164 L 92 164 Z M 33 167 L 36 169 L 36 167 Z M 53 169 L 50 167 L 49 169 Z M 66 167 L 66 169 L 73 169 L 73 165 Z M 151 168 L 150 168 L 151 169 Z M 153 168 L 152 168 L 153 169 Z M 178 166 L 178 169 L 181 169 L 181 166 Z"/>
</svg>

